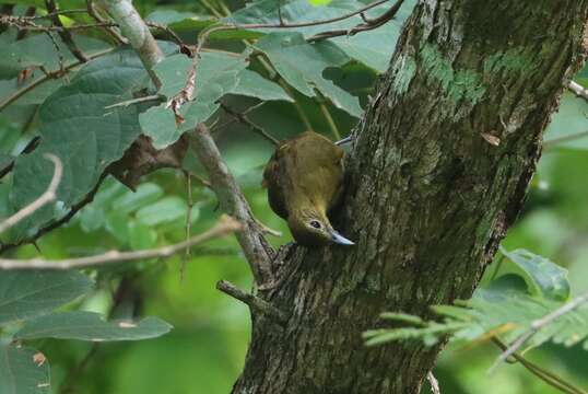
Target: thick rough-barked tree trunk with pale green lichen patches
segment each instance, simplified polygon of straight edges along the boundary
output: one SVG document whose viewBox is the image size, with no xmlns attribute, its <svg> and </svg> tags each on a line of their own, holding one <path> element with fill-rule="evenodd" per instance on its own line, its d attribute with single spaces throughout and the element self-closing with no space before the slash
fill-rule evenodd
<svg viewBox="0 0 588 394">
<path fill-rule="evenodd" d="M 467 299 L 519 213 L 583 60 L 588 0 L 424 0 L 355 130 L 338 217 L 356 246 L 296 247 L 261 296 L 233 393 L 419 393 L 439 348 L 366 348 L 384 311 Z"/>
</svg>

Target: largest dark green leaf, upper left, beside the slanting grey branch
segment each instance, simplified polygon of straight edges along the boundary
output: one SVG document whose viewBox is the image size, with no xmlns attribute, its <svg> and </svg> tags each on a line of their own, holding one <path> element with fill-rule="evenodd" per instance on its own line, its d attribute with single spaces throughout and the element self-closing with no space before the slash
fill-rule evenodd
<svg viewBox="0 0 588 394">
<path fill-rule="evenodd" d="M 120 159 L 141 131 L 139 106 L 105 107 L 132 99 L 132 93 L 146 84 L 146 72 L 134 50 L 125 48 L 90 61 L 69 85 L 51 94 L 39 109 L 39 147 L 16 160 L 11 194 L 14 208 L 46 189 L 54 172 L 43 157 L 46 152 L 58 155 L 63 164 L 58 189 L 63 206 L 78 202 L 90 192 L 106 166 Z M 33 222 L 40 225 L 52 218 L 51 207 L 46 207 L 21 228 Z"/>
</svg>

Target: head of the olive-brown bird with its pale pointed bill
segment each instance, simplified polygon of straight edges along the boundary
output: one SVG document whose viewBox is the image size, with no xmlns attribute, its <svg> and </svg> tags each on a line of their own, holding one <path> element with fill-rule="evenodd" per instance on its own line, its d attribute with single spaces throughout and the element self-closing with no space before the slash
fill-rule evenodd
<svg viewBox="0 0 588 394">
<path fill-rule="evenodd" d="M 329 243 L 354 245 L 331 225 L 327 215 L 317 209 L 303 209 L 287 219 L 292 236 L 305 246 L 324 246 Z"/>
</svg>

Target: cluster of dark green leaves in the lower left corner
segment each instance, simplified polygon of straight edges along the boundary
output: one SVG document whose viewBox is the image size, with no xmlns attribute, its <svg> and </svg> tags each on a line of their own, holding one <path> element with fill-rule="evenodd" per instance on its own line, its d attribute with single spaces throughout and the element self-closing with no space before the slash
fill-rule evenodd
<svg viewBox="0 0 588 394">
<path fill-rule="evenodd" d="M 0 340 L 0 391 L 49 393 L 49 361 L 44 354 L 23 347 L 22 340 L 59 338 L 91 341 L 154 338 L 170 326 L 157 317 L 106 323 L 91 312 L 54 312 L 93 286 L 78 271 L 10 271 L 0 276 L 0 329 L 14 333 Z M 20 328 L 19 328 L 20 327 Z"/>
</svg>

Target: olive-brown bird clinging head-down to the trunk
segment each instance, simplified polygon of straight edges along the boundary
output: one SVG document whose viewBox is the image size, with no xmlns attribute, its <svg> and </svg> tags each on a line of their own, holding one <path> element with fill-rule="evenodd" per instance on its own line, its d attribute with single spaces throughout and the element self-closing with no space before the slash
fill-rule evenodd
<svg viewBox="0 0 588 394">
<path fill-rule="evenodd" d="M 280 142 L 266 164 L 262 185 L 268 202 L 287 222 L 298 244 L 354 245 L 332 228 L 328 217 L 343 195 L 344 154 L 328 138 L 304 131 Z"/>
</svg>

